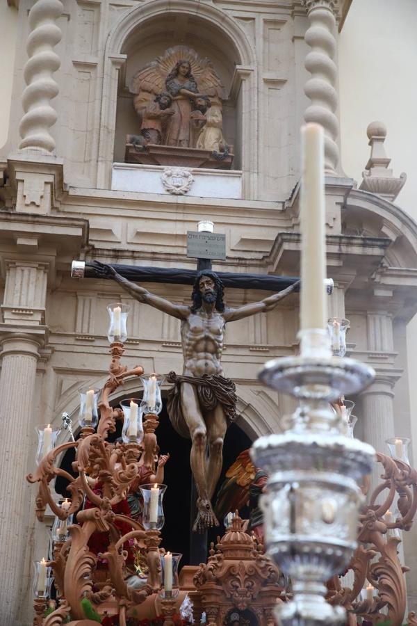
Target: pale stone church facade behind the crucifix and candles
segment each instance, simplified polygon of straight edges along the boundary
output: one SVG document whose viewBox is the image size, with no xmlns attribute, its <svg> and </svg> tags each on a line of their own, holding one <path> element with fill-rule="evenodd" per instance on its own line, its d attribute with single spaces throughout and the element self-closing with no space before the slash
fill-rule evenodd
<svg viewBox="0 0 417 626">
<path fill-rule="evenodd" d="M 348 4 L 16 1 L 13 106 L 0 153 L 0 389 L 7 424 L 0 549 L 2 562 L 14 564 L 3 569 L 3 626 L 31 623 L 31 560 L 46 553 L 46 531 L 33 519 L 34 492 L 24 486 L 35 458 L 34 427 L 59 424 L 64 410 L 76 419 L 79 387 L 105 380 L 106 304 L 132 305 L 126 364 L 158 372 L 181 367 L 177 321 L 133 303 L 113 282 L 71 279 L 72 259 L 194 268 L 186 232 L 208 217 L 227 241 L 227 260 L 215 262 L 215 270 L 297 275 L 304 115 L 320 121 L 327 136 L 327 262 L 336 286 L 330 313 L 351 320 L 349 352 L 377 371 L 370 390 L 354 399 L 357 436 L 384 449 L 386 437 L 411 433 L 404 332 L 417 310 L 417 227 L 389 198 L 355 188 L 338 162 L 338 25 Z M 184 42 L 211 57 L 226 88 L 224 132 L 236 160 L 213 187 L 234 188 L 238 177 L 239 193 L 115 188 L 120 166 L 113 164 L 123 160 L 124 135 L 134 123 L 129 78 L 137 63 Z M 158 166 L 150 170 L 154 175 Z M 217 171 L 205 176 L 214 179 Z M 196 182 L 203 176 L 194 175 Z M 188 287 L 151 287 L 179 303 L 190 296 Z M 266 295 L 226 294 L 232 306 Z M 265 360 L 297 351 L 297 306 L 292 297 L 227 329 L 225 374 L 236 381 L 239 424 L 252 439 L 279 431 L 292 408 L 256 373 Z M 416 548 L 407 546 L 406 554 L 412 563 Z M 409 580 L 412 609 L 416 575 Z"/>
</svg>

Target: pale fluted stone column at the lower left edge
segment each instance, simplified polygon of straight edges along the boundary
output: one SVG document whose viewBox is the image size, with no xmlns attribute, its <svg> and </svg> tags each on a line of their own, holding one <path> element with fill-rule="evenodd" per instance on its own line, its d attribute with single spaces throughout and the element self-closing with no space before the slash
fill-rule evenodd
<svg viewBox="0 0 417 626">
<path fill-rule="evenodd" d="M 1 341 L 1 626 L 16 626 L 20 623 L 31 501 L 31 485 L 26 483 L 25 476 L 33 437 L 33 399 L 40 342 L 42 336 L 20 332 L 7 333 Z M 25 601 L 31 602 L 31 597 Z"/>
</svg>

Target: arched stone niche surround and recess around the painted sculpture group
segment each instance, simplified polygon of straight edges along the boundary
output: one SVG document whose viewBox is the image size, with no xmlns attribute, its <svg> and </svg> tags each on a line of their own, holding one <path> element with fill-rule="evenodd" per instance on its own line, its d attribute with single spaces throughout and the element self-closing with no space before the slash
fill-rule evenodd
<svg viewBox="0 0 417 626">
<path fill-rule="evenodd" d="M 224 134 L 234 144 L 234 168 L 243 170 L 246 198 L 254 197 L 256 89 L 254 50 L 234 19 L 214 6 L 189 0 L 150 0 L 132 8 L 108 36 L 99 138 L 97 186 L 108 188 L 111 166 L 124 160 L 126 134 L 138 129 L 129 93 L 133 74 L 174 45 L 208 57 L 227 93 Z M 242 146 L 251 149 L 241 150 Z"/>
</svg>

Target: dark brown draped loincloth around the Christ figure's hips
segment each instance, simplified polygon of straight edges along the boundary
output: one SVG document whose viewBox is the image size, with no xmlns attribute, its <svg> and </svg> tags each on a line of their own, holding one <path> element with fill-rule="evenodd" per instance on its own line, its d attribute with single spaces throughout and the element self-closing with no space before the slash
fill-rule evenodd
<svg viewBox="0 0 417 626">
<path fill-rule="evenodd" d="M 224 410 L 227 426 L 235 421 L 236 414 L 236 385 L 230 378 L 224 376 L 177 376 L 174 371 L 166 378 L 168 383 L 174 383 L 174 386 L 168 392 L 167 411 L 170 416 L 172 426 L 181 437 L 190 439 L 190 431 L 183 417 L 181 410 L 181 384 L 189 383 L 197 388 L 197 398 L 199 405 L 204 411 L 212 411 L 220 404 Z"/>
</svg>

